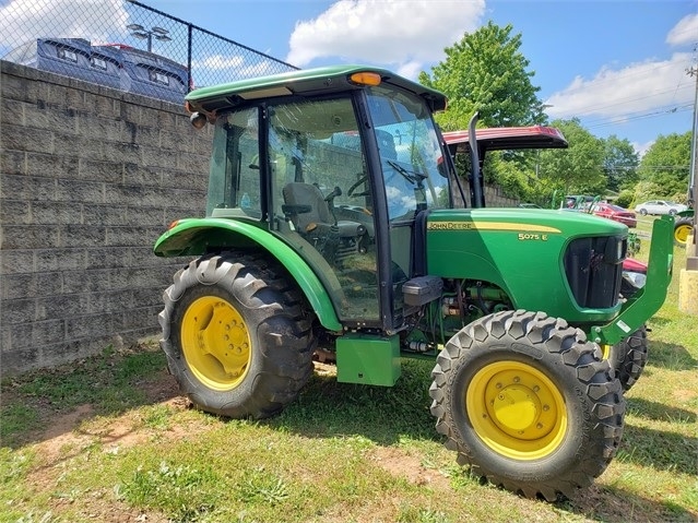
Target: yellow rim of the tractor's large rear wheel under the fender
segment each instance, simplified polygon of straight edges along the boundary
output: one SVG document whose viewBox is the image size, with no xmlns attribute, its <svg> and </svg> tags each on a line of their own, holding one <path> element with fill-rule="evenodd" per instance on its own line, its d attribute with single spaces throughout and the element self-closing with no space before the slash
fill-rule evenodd
<svg viewBox="0 0 698 523">
<path fill-rule="evenodd" d="M 217 296 L 194 300 L 181 322 L 181 346 L 191 372 L 209 389 L 229 391 L 245 379 L 250 336 L 239 312 Z"/>
</svg>

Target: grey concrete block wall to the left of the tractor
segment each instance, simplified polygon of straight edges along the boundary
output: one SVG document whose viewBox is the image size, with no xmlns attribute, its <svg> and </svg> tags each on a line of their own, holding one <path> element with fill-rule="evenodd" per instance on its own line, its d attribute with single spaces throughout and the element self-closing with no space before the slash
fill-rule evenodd
<svg viewBox="0 0 698 523">
<path fill-rule="evenodd" d="M 152 246 L 203 215 L 211 128 L 174 104 L 0 67 L 2 375 L 157 334 L 188 260 Z"/>
</svg>

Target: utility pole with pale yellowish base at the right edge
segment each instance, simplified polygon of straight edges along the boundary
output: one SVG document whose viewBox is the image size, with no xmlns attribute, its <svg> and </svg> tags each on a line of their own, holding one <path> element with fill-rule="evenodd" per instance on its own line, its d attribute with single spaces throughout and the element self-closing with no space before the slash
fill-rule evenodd
<svg viewBox="0 0 698 523">
<path fill-rule="evenodd" d="M 686 71 L 696 78 L 696 94 L 694 98 L 694 126 L 690 151 L 690 173 L 688 175 L 689 198 L 694 201 L 694 231 L 686 241 L 686 269 L 682 269 L 678 280 L 678 309 L 683 312 L 698 314 L 698 211 L 696 209 L 696 166 L 698 165 L 698 68 L 691 67 Z"/>
</svg>

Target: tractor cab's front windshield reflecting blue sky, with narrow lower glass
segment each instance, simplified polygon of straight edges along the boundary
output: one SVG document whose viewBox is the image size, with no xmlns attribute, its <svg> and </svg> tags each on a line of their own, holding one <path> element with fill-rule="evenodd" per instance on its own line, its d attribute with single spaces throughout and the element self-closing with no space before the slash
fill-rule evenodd
<svg viewBox="0 0 698 523">
<path fill-rule="evenodd" d="M 383 86 L 368 91 L 367 107 L 377 147 L 376 194 L 385 240 L 377 234 L 381 311 L 386 331 L 404 325 L 404 283 L 426 270 L 419 217 L 450 206 L 443 148 L 424 99 Z"/>
</svg>

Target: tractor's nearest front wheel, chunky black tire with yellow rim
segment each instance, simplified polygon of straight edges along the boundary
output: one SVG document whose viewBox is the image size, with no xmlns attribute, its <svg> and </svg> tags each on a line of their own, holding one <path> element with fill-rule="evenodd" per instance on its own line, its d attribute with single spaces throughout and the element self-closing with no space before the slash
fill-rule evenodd
<svg viewBox="0 0 698 523">
<path fill-rule="evenodd" d="M 591 484 L 616 453 L 620 383 L 564 320 L 522 310 L 480 318 L 447 343 L 431 376 L 446 447 L 494 485 L 553 501 Z"/>
</svg>

